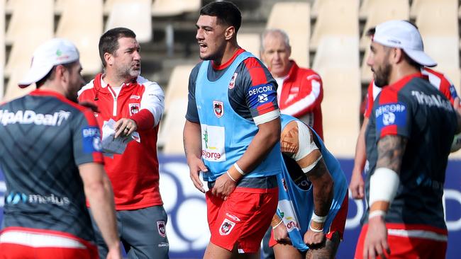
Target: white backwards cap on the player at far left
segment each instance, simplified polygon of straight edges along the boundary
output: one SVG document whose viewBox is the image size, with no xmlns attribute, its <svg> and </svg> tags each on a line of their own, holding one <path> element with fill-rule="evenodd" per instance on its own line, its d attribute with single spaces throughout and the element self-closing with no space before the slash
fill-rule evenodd
<svg viewBox="0 0 461 259">
<path fill-rule="evenodd" d="M 26 88 L 43 79 L 58 64 L 68 64 L 79 59 L 77 47 L 69 40 L 55 38 L 40 45 L 33 52 L 32 64 L 18 86 Z"/>
</svg>

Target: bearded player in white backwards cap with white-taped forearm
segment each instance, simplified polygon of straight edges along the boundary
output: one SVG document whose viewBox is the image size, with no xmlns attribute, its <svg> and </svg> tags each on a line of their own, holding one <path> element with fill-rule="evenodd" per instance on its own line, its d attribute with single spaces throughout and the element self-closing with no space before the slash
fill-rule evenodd
<svg viewBox="0 0 461 259">
<path fill-rule="evenodd" d="M 435 62 L 407 21 L 377 25 L 367 64 L 382 88 L 366 132 L 367 222 L 355 258 L 444 258 L 443 183 L 460 114 L 421 74 Z M 455 99 L 459 111 L 459 99 Z"/>
</svg>

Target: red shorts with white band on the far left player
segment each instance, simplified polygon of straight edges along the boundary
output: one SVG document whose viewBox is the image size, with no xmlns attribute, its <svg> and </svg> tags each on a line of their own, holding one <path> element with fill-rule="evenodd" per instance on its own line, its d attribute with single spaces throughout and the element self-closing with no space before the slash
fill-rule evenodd
<svg viewBox="0 0 461 259">
<path fill-rule="evenodd" d="M 6 228 L 0 234 L 0 259 L 97 259 L 94 244 L 57 231 Z"/>
</svg>

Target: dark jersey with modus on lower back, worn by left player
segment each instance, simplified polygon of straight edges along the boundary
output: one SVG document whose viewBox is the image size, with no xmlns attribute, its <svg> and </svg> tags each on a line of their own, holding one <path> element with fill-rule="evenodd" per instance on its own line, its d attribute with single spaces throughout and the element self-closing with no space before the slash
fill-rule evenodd
<svg viewBox="0 0 461 259">
<path fill-rule="evenodd" d="M 78 166 L 103 163 L 91 110 L 45 90 L 0 105 L 0 166 L 6 180 L 4 227 L 94 233 Z"/>
</svg>

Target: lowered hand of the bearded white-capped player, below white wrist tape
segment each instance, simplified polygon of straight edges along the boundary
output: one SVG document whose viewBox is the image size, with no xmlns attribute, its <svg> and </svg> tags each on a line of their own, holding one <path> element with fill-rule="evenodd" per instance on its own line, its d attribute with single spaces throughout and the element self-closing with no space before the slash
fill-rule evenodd
<svg viewBox="0 0 461 259">
<path fill-rule="evenodd" d="M 372 217 L 368 221 L 367 236 L 363 247 L 364 259 L 375 259 L 377 255 L 381 258 L 388 258 L 391 250 L 387 243 L 387 229 L 384 219 L 381 216 Z"/>
</svg>

